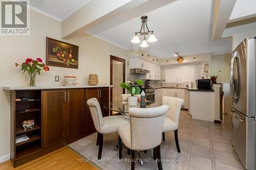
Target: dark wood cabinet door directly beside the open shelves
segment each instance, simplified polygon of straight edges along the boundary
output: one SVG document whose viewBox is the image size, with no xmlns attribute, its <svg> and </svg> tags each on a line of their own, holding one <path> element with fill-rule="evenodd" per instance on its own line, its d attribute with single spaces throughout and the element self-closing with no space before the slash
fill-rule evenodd
<svg viewBox="0 0 256 170">
<path fill-rule="evenodd" d="M 42 90 L 42 147 L 66 140 L 65 90 Z"/>
</svg>

